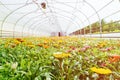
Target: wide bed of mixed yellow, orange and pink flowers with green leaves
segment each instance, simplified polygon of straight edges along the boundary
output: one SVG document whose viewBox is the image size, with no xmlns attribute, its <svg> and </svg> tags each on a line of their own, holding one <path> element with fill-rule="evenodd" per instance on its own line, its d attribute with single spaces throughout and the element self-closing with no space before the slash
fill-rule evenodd
<svg viewBox="0 0 120 80">
<path fill-rule="evenodd" d="M 120 40 L 0 39 L 1 80 L 120 80 Z"/>
</svg>

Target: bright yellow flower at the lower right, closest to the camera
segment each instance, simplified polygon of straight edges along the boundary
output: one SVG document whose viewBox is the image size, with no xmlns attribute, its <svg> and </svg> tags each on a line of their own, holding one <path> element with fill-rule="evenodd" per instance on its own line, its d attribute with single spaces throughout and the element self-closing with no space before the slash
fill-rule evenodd
<svg viewBox="0 0 120 80">
<path fill-rule="evenodd" d="M 93 72 L 96 72 L 98 74 L 110 74 L 112 73 L 111 70 L 109 69 L 103 69 L 103 68 L 96 68 L 96 67 L 92 67 L 90 68 Z"/>
</svg>

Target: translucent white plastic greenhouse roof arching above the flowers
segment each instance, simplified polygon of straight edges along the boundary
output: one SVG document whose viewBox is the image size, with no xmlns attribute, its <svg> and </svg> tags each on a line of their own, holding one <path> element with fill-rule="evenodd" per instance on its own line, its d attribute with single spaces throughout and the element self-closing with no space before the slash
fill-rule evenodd
<svg viewBox="0 0 120 80">
<path fill-rule="evenodd" d="M 101 19 L 120 20 L 120 0 L 0 0 L 1 33 L 69 34 Z"/>
</svg>

